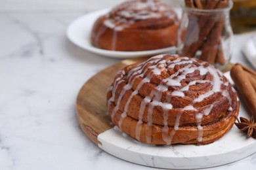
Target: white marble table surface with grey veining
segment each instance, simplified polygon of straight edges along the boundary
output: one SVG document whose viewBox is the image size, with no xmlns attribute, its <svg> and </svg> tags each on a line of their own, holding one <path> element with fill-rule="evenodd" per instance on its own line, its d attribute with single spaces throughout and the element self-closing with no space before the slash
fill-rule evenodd
<svg viewBox="0 0 256 170">
<path fill-rule="evenodd" d="M 75 98 L 83 83 L 120 61 L 68 41 L 68 24 L 82 14 L 0 13 L 0 169 L 154 169 L 100 150 L 77 124 Z M 249 65 L 240 50 L 250 36 L 234 37 L 233 63 Z M 253 154 L 210 169 L 255 166 Z"/>
</svg>

